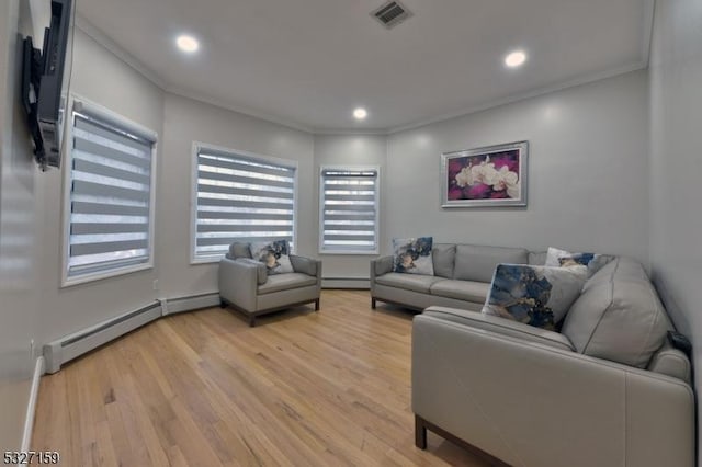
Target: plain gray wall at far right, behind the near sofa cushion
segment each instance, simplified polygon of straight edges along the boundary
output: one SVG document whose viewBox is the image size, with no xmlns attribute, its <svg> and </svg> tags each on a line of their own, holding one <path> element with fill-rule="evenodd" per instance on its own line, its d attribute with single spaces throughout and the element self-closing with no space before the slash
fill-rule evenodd
<svg viewBox="0 0 702 467">
<path fill-rule="evenodd" d="M 702 361 L 701 109 L 702 3 L 658 1 L 650 58 L 650 263 L 666 308 L 678 329 L 692 339 L 698 364 Z M 698 389 L 701 375 L 698 368 Z M 698 411 L 702 417 L 700 407 Z"/>
</svg>

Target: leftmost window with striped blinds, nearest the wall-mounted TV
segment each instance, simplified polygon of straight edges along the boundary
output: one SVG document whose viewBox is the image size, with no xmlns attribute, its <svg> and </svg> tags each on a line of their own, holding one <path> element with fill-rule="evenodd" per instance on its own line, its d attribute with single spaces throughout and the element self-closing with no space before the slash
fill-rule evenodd
<svg viewBox="0 0 702 467">
<path fill-rule="evenodd" d="M 152 265 L 156 134 L 73 101 L 64 285 Z"/>
</svg>

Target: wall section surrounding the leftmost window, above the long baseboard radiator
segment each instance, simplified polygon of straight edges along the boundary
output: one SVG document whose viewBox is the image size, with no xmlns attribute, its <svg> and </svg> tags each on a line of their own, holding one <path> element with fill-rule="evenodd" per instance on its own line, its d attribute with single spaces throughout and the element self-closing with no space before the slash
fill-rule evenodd
<svg viewBox="0 0 702 467">
<path fill-rule="evenodd" d="M 76 27 L 70 91 L 162 135 L 163 93 L 93 38 Z M 162 138 L 157 164 L 165 159 Z M 63 171 L 42 175 L 45 191 L 37 243 L 42 249 L 42 340 L 48 342 L 151 303 L 156 270 L 60 287 Z M 157 167 L 157 172 L 159 168 Z"/>
</svg>

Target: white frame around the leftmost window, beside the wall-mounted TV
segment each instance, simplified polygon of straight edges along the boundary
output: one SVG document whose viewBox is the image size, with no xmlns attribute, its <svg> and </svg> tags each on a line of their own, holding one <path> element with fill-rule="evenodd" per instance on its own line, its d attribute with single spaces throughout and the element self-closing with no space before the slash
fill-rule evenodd
<svg viewBox="0 0 702 467">
<path fill-rule="evenodd" d="M 113 124 L 121 129 L 132 132 L 136 135 L 143 136 L 146 139 L 150 139 L 151 144 L 151 168 L 150 168 L 150 181 L 149 181 L 149 219 L 148 219 L 148 261 L 138 264 L 128 265 L 115 265 L 110 270 L 103 270 L 98 272 L 88 272 L 80 275 L 68 275 L 68 260 L 70 258 L 70 192 L 71 192 L 71 171 L 73 164 L 73 112 L 84 111 L 105 123 Z M 114 277 L 124 274 L 131 274 L 137 271 L 144 271 L 154 269 L 154 252 L 156 251 L 156 236 L 154 235 L 154 224 L 156 218 L 156 173 L 158 162 L 158 133 L 141 125 L 127 117 L 120 115 L 100 104 L 97 104 L 79 94 L 70 94 L 68 105 L 66 106 L 65 115 L 65 141 L 63 145 L 63 239 L 61 239 L 61 287 L 68 287 L 78 284 L 84 284 L 88 282 L 100 281 L 107 277 Z"/>
</svg>

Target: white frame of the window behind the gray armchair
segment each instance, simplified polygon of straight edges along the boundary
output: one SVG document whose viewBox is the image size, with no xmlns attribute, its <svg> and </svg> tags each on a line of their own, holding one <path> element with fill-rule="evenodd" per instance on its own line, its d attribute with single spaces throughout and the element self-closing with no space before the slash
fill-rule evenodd
<svg viewBox="0 0 702 467">
<path fill-rule="evenodd" d="M 297 246 L 297 207 L 298 207 L 298 164 L 296 160 L 282 159 L 272 156 L 262 156 L 256 152 L 242 151 L 239 149 L 216 146 L 210 143 L 193 141 L 191 157 L 191 193 L 190 193 L 190 264 L 210 264 L 219 262 L 225 253 L 197 254 L 197 153 L 201 149 L 207 149 L 214 152 L 223 152 L 228 156 L 242 156 L 245 158 L 257 159 L 261 162 L 282 166 L 293 169 L 293 246 L 291 253 L 295 252 Z"/>
</svg>

